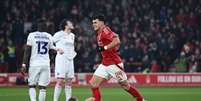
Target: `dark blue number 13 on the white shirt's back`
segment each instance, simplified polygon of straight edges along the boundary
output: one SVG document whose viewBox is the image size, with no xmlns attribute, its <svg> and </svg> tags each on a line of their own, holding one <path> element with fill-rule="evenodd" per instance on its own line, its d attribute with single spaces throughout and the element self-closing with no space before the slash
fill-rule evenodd
<svg viewBox="0 0 201 101">
<path fill-rule="evenodd" d="M 38 44 L 38 54 L 46 54 L 47 53 L 48 42 L 36 41 L 36 44 Z"/>
</svg>

